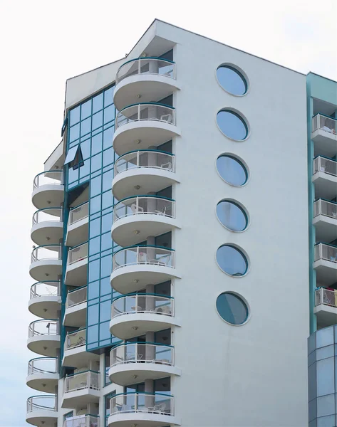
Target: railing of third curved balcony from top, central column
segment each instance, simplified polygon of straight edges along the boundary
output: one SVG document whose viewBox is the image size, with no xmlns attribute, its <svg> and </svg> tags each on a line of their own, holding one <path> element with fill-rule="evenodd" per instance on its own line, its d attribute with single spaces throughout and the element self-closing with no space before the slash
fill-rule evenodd
<svg viewBox="0 0 337 427">
<path fill-rule="evenodd" d="M 139 150 L 128 152 L 118 157 L 113 169 L 114 176 L 120 172 L 140 167 L 151 167 L 168 172 L 175 172 L 175 155 L 167 152 L 150 150 Z"/>
</svg>

